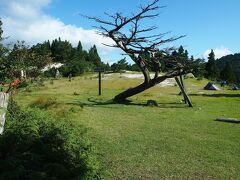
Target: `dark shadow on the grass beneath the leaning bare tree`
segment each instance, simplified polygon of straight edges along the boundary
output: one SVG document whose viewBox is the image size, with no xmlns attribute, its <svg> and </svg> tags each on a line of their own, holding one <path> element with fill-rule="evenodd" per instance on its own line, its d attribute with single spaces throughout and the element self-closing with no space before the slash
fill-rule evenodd
<svg viewBox="0 0 240 180">
<path fill-rule="evenodd" d="M 127 106 L 151 107 L 151 106 L 148 106 L 147 103 L 143 101 L 134 102 L 131 100 L 125 100 L 122 102 L 114 102 L 112 99 L 103 101 L 103 100 L 93 99 L 93 98 L 88 98 L 87 101 L 85 102 L 80 100 L 75 100 L 67 104 L 80 106 L 81 108 L 96 107 L 96 106 L 101 106 L 102 108 L 118 108 L 117 106 L 112 106 L 112 105 L 118 105 L 118 104 L 127 105 Z M 158 106 L 156 106 L 155 108 L 185 108 L 185 107 L 187 106 L 184 103 L 171 102 L 171 103 L 158 103 Z"/>
</svg>

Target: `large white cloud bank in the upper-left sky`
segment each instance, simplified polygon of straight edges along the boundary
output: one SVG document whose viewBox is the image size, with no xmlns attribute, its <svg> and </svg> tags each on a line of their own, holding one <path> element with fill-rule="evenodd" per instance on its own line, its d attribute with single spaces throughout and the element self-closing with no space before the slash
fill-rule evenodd
<svg viewBox="0 0 240 180">
<path fill-rule="evenodd" d="M 25 40 L 26 43 L 33 45 L 61 37 L 74 46 L 80 40 L 86 49 L 95 44 L 102 56 L 115 51 L 102 45 L 113 44 L 113 41 L 96 34 L 94 29 L 88 30 L 65 24 L 55 17 L 44 14 L 43 8 L 50 3 L 51 0 L 1 0 L 0 16 L 4 36 L 9 36 L 8 41 Z"/>
</svg>

